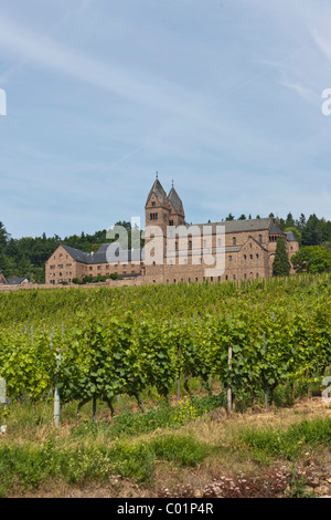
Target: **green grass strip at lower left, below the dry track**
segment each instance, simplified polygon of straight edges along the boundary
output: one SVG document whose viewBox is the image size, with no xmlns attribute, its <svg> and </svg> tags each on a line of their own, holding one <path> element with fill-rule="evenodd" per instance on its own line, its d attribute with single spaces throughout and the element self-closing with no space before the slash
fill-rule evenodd
<svg viewBox="0 0 331 520">
<path fill-rule="evenodd" d="M 194 467 L 210 448 L 191 436 L 160 435 L 145 441 L 116 441 L 110 446 L 71 446 L 61 438 L 44 445 L 0 446 L 1 496 L 13 487 L 31 490 L 49 478 L 64 479 L 68 485 L 90 480 L 105 481 L 113 475 L 150 483 L 158 460 L 182 467 Z"/>
</svg>

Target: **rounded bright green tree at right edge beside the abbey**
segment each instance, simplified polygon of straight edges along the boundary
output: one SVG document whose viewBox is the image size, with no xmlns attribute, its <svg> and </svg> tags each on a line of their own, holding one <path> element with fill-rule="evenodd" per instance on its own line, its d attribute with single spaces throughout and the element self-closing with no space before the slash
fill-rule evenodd
<svg viewBox="0 0 331 520">
<path fill-rule="evenodd" d="M 331 251 L 321 246 L 307 246 L 291 258 L 297 272 L 331 271 Z"/>
</svg>

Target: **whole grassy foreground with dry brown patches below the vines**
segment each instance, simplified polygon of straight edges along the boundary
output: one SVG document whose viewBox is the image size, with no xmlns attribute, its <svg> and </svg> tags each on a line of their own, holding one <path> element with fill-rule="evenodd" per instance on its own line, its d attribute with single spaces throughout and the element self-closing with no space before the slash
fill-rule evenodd
<svg viewBox="0 0 331 520">
<path fill-rule="evenodd" d="M 248 486 L 236 477 L 233 487 L 228 477 L 218 480 L 216 488 L 226 496 L 267 497 L 285 489 L 285 480 L 273 472 L 275 464 L 290 462 L 296 468 L 307 454 L 330 454 L 330 407 L 320 398 L 269 412 L 234 413 L 231 418 L 226 418 L 222 399 L 222 395 L 200 395 L 172 406 L 159 403 L 146 407 L 145 413 L 122 403 L 113 422 L 106 419 L 107 408 L 100 403 L 96 423 L 90 419 L 90 407 L 82 410 L 77 420 L 75 406 L 68 405 L 61 428 L 54 428 L 46 404 L 43 415 L 38 409 L 35 417 L 30 406 L 12 405 L 8 431 L 0 437 L 0 496 L 34 496 L 50 489 L 52 481 L 57 482 L 56 492 L 92 489 L 97 482 L 103 488 L 114 476 L 120 485 L 111 488 L 111 496 L 125 496 L 120 495 L 125 493 L 124 482 L 138 486 L 138 496 L 147 497 L 162 496 L 164 482 L 174 496 L 175 482 L 194 483 L 197 476 L 209 482 L 220 475 L 244 471 L 261 472 L 260 483 L 252 480 Z M 267 468 L 268 486 L 264 478 Z M 286 478 L 291 496 L 305 495 L 305 476 L 298 477 L 293 469 Z M 194 496 L 195 487 L 179 496 Z M 213 496 L 213 489 L 205 485 L 205 496 Z"/>
</svg>

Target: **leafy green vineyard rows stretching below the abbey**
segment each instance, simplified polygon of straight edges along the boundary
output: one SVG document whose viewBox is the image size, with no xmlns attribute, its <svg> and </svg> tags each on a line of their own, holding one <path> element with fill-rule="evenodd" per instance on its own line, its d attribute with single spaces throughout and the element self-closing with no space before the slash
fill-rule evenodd
<svg viewBox="0 0 331 520">
<path fill-rule="evenodd" d="M 331 365 L 331 277 L 0 294 L 0 377 L 8 403 L 64 407 L 118 396 L 142 407 L 200 382 L 231 410 L 269 406 L 278 388 L 322 379 Z M 54 408 L 55 409 L 55 408 Z M 60 422 L 60 408 L 56 408 Z M 55 412 L 54 412 L 55 413 Z"/>
</svg>

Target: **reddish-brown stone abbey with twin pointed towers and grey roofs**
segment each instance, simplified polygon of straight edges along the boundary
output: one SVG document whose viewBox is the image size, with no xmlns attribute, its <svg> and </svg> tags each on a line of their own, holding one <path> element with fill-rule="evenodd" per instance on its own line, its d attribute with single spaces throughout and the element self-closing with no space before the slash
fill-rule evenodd
<svg viewBox="0 0 331 520">
<path fill-rule="evenodd" d="M 172 186 L 167 195 L 158 176 L 147 197 L 145 219 L 143 249 L 118 247 L 109 254 L 109 243 L 104 243 L 87 253 L 61 245 L 45 264 L 45 283 L 71 284 L 100 274 L 111 284 L 113 273 L 121 284 L 131 285 L 264 279 L 271 277 L 280 236 L 289 259 L 299 251 L 295 235 L 281 231 L 274 218 L 188 225 L 177 190 Z M 218 259 L 222 268 L 213 268 Z"/>
</svg>

